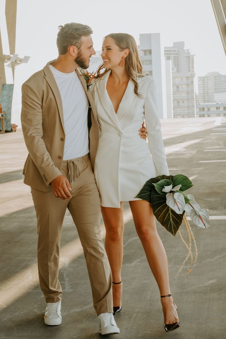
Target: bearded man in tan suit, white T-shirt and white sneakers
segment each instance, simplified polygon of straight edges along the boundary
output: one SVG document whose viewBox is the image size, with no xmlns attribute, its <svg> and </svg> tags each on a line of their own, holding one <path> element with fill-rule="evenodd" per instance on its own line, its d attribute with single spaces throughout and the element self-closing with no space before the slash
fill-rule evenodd
<svg viewBox="0 0 226 339">
<path fill-rule="evenodd" d="M 59 244 L 68 208 L 86 258 L 99 333 L 116 334 L 111 270 L 100 236 L 100 198 L 93 174 L 99 126 L 92 95 L 78 70 L 88 68 L 95 54 L 93 32 L 79 23 L 59 28 L 58 58 L 22 85 L 21 123 L 29 151 L 23 174 L 37 216 L 39 282 L 47 303 L 44 323 L 61 323 Z"/>
</svg>

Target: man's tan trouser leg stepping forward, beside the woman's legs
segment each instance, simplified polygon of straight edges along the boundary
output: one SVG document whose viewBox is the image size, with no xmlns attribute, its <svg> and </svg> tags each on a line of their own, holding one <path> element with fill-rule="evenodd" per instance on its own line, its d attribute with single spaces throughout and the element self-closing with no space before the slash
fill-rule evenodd
<svg viewBox="0 0 226 339">
<path fill-rule="evenodd" d="M 100 198 L 91 162 L 84 157 L 77 164 L 76 192 L 68 209 L 77 227 L 86 258 L 94 308 L 97 315 L 113 312 L 112 277 L 107 254 L 100 235 Z"/>
</svg>

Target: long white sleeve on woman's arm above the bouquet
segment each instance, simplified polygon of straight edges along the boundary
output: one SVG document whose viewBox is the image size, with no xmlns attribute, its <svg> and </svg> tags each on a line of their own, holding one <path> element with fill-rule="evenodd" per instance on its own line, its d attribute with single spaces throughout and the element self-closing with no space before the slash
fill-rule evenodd
<svg viewBox="0 0 226 339">
<path fill-rule="evenodd" d="M 151 155 L 157 175 L 169 175 L 163 144 L 161 123 L 158 117 L 157 97 L 154 80 L 151 81 L 144 104 L 145 125 Z"/>
</svg>

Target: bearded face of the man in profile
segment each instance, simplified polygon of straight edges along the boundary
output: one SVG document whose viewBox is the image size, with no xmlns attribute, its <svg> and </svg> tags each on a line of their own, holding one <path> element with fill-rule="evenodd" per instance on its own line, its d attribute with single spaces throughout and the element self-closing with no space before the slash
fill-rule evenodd
<svg viewBox="0 0 226 339">
<path fill-rule="evenodd" d="M 88 68 L 90 65 L 90 58 L 96 54 L 93 48 L 93 40 L 91 35 L 81 38 L 82 45 L 78 50 L 77 57 L 75 58 L 76 64 L 81 68 Z"/>
</svg>

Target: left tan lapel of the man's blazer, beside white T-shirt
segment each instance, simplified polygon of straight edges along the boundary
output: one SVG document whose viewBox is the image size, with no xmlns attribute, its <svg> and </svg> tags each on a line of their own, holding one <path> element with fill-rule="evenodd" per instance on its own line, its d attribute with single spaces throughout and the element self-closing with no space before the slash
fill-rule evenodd
<svg viewBox="0 0 226 339">
<path fill-rule="evenodd" d="M 60 91 L 59 88 L 57 86 L 56 80 L 53 76 L 53 73 L 50 69 L 50 64 L 53 63 L 55 60 L 52 60 L 50 62 L 48 62 L 45 67 L 43 68 L 43 71 L 45 73 L 44 78 L 46 79 L 46 81 L 48 82 L 48 84 L 50 85 L 53 94 L 55 96 L 56 102 L 57 102 L 57 107 L 58 107 L 58 111 L 59 111 L 59 115 L 60 115 L 60 121 L 63 127 L 63 131 L 65 134 L 65 130 L 64 130 L 64 120 L 63 120 L 63 105 L 62 105 L 62 100 L 61 100 L 61 96 L 60 96 Z"/>
</svg>

